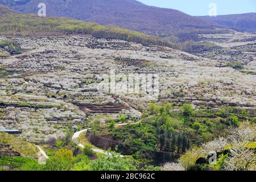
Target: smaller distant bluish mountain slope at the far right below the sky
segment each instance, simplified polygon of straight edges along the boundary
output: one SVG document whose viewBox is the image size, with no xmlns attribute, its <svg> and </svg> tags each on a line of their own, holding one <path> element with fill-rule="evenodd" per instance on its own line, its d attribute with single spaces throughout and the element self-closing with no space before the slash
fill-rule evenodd
<svg viewBox="0 0 256 182">
<path fill-rule="evenodd" d="M 238 31 L 256 32 L 256 13 L 219 15 L 216 17 L 199 16 L 199 18 L 218 23 Z"/>
</svg>

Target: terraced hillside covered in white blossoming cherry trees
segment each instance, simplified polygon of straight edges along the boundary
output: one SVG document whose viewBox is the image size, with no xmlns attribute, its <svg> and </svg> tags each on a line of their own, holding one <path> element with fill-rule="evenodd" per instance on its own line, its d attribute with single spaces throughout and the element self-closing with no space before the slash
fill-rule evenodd
<svg viewBox="0 0 256 182">
<path fill-rule="evenodd" d="M 98 118 L 101 122 L 121 115 L 140 118 L 141 111 L 151 102 L 169 101 L 177 106 L 188 102 L 195 108 L 203 105 L 213 109 L 236 106 L 253 114 L 256 76 L 248 73 L 256 69 L 255 40 L 240 43 L 241 36 L 226 35 L 225 40 L 232 43 L 215 44 L 229 49 L 236 48 L 231 44 L 242 46 L 242 55 L 250 48 L 253 58 L 247 64 L 241 61 L 242 69 L 228 66 L 226 60 L 123 40 L 89 36 L 13 37 L 22 53 L 0 59 L 0 127 L 20 129 L 28 141 L 43 143 L 50 137 L 63 136 L 68 127 L 83 127 Z M 130 73 L 158 75 L 158 97 L 152 99 L 148 92 L 135 93 L 133 88 L 141 85 L 142 80 L 127 85 L 132 92 L 119 92 L 118 88 L 114 93 L 102 92 L 98 89 L 104 82 L 102 74 L 109 75 L 112 70 L 117 84 Z"/>
</svg>

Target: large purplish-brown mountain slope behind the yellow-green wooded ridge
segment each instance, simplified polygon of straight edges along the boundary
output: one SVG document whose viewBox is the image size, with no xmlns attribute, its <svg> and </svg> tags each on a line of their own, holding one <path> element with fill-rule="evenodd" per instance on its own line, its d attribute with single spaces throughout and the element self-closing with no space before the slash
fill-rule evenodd
<svg viewBox="0 0 256 182">
<path fill-rule="evenodd" d="M 37 13 L 41 0 L 0 0 L 21 13 Z M 97 22 L 114 24 L 129 30 L 142 32 L 170 33 L 186 28 L 213 29 L 220 25 L 201 18 L 187 15 L 173 9 L 147 6 L 135 0 L 55 0 L 44 1 L 47 15 L 65 16 Z M 56 8 L 57 7 L 57 8 Z"/>
</svg>

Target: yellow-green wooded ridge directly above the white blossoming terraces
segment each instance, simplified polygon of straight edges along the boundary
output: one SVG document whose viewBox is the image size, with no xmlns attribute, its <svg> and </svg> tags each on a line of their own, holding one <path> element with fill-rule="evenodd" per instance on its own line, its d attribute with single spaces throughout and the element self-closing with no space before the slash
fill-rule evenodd
<svg viewBox="0 0 256 182">
<path fill-rule="evenodd" d="M 96 38 L 122 39 L 129 42 L 137 42 L 144 45 L 160 45 L 175 47 L 168 40 L 129 31 L 114 26 L 101 26 L 97 23 L 82 22 L 67 18 L 46 17 L 37 15 L 18 14 L 0 5 L 0 32 L 7 35 L 34 35 L 49 34 L 90 34 Z"/>
</svg>

